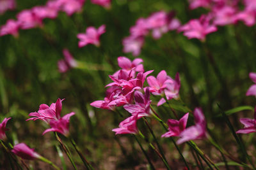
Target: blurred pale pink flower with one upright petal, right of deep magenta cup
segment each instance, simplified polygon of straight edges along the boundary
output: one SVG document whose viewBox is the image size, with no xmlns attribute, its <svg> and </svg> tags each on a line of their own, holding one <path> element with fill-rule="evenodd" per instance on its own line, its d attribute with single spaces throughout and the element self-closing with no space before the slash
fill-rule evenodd
<svg viewBox="0 0 256 170">
<path fill-rule="evenodd" d="M 180 139 L 178 139 L 177 144 L 206 137 L 206 122 L 201 108 L 195 108 L 194 120 L 195 125 L 188 127 L 180 133 Z"/>
</svg>

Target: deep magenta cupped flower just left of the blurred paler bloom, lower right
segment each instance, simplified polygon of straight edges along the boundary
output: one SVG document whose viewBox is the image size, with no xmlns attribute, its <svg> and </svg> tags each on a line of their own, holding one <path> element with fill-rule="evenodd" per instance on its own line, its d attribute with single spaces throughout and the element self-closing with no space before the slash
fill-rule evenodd
<svg viewBox="0 0 256 170">
<path fill-rule="evenodd" d="M 169 132 L 166 132 L 161 137 L 169 138 L 171 136 L 180 136 L 180 133 L 186 129 L 188 116 L 189 113 L 186 113 L 180 120 L 169 119 L 167 122 Z"/>
</svg>

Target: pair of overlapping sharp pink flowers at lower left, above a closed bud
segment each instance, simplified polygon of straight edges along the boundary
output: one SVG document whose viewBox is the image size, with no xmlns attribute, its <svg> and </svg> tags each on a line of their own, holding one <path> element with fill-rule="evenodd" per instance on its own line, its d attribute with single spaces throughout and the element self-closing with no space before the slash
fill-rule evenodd
<svg viewBox="0 0 256 170">
<path fill-rule="evenodd" d="M 56 103 L 52 103 L 51 106 L 48 106 L 47 104 L 41 104 L 39 106 L 39 110 L 36 112 L 29 113 L 29 116 L 32 118 L 29 118 L 28 120 L 43 120 L 47 124 L 50 125 L 50 129 L 46 129 L 43 132 L 43 135 L 47 132 L 59 132 L 63 134 L 64 136 L 69 136 L 69 120 L 70 117 L 75 115 L 74 112 L 68 113 L 64 117 L 60 116 L 61 108 L 62 108 L 62 101 L 60 98 L 56 101 Z"/>
</svg>

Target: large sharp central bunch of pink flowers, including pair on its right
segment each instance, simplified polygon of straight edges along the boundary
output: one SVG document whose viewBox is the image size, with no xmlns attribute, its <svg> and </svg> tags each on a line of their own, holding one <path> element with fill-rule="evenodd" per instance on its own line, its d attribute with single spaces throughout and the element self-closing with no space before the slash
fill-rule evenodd
<svg viewBox="0 0 256 170">
<path fill-rule="evenodd" d="M 131 113 L 131 117 L 121 122 L 119 128 L 113 129 L 116 134 L 138 133 L 137 120 L 152 115 L 150 93 L 165 96 L 168 100 L 179 96 L 180 81 L 178 73 L 175 80 L 168 76 L 166 71 L 161 71 L 157 78 L 148 76 L 153 71 L 144 72 L 141 62 L 143 62 L 142 59 L 131 61 L 126 57 L 118 57 L 118 66 L 122 69 L 116 71 L 113 75 L 109 75 L 113 82 L 106 85 L 108 89 L 104 101 L 91 103 L 91 106 L 96 108 L 113 111 L 116 107 L 123 106 L 126 111 Z M 144 86 L 146 79 L 148 87 Z M 163 104 L 165 99 L 163 98 L 160 101 Z"/>
</svg>

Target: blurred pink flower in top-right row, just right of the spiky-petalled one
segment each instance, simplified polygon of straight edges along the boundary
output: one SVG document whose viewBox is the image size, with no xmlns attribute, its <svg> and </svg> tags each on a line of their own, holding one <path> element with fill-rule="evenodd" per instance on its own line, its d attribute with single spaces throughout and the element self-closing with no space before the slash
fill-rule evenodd
<svg viewBox="0 0 256 170">
<path fill-rule="evenodd" d="M 222 8 L 214 8 L 214 24 L 216 25 L 228 25 L 236 24 L 237 22 L 237 10 L 232 6 L 224 6 Z"/>
</svg>

